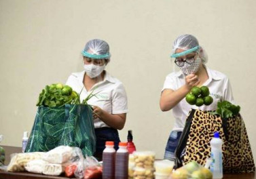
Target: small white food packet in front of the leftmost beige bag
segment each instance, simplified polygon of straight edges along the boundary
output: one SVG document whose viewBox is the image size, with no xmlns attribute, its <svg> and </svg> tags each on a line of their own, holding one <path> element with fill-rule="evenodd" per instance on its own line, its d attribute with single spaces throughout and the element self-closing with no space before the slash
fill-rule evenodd
<svg viewBox="0 0 256 179">
<path fill-rule="evenodd" d="M 48 162 L 46 162 L 42 159 L 32 160 L 32 161 L 29 161 L 28 163 L 26 163 L 25 169 L 28 172 L 42 174 L 46 163 L 48 163 Z"/>
</svg>

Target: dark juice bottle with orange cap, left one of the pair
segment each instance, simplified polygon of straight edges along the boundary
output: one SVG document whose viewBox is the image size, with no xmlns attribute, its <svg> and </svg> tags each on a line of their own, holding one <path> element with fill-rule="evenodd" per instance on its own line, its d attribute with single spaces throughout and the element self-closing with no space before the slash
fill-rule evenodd
<svg viewBox="0 0 256 179">
<path fill-rule="evenodd" d="M 113 141 L 106 142 L 103 151 L 103 179 L 115 178 L 115 148 Z"/>
</svg>

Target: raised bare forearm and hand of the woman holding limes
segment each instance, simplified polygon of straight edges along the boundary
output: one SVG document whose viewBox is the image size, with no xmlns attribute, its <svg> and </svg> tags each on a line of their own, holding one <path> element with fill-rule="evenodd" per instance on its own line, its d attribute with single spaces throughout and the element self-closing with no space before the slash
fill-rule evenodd
<svg viewBox="0 0 256 179">
<path fill-rule="evenodd" d="M 191 90 L 192 87 L 198 85 L 200 80 L 197 75 L 190 74 L 185 77 L 185 85 L 178 90 L 166 89 L 160 97 L 160 108 L 162 111 L 169 111 L 176 106 Z"/>
</svg>

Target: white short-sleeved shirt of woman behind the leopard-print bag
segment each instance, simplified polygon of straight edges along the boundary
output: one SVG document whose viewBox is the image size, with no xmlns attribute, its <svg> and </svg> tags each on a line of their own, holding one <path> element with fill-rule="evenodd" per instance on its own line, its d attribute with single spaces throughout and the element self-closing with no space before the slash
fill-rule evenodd
<svg viewBox="0 0 256 179">
<path fill-rule="evenodd" d="M 210 96 L 213 97 L 213 103 L 209 106 L 202 105 L 200 107 L 196 105 L 190 105 L 183 98 L 174 108 L 172 108 L 172 114 L 175 117 L 175 124 L 172 130 L 182 131 L 185 126 L 185 120 L 191 108 L 200 109 L 203 111 L 213 111 L 217 108 L 217 102 L 227 100 L 234 103 L 232 95 L 232 88 L 230 81 L 226 75 L 219 71 L 211 70 L 206 67 L 208 73 L 208 80 L 203 84 L 206 85 L 210 90 Z M 185 75 L 181 71 L 170 73 L 166 76 L 164 81 L 165 89 L 178 90 L 181 86 L 185 85 Z"/>
</svg>

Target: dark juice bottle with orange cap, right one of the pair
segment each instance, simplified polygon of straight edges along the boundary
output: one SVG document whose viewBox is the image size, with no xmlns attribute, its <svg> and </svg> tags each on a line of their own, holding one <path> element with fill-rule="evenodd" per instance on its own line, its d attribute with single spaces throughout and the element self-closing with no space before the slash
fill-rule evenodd
<svg viewBox="0 0 256 179">
<path fill-rule="evenodd" d="M 115 154 L 115 179 L 128 178 L 128 159 L 127 143 L 120 142 Z"/>
</svg>

